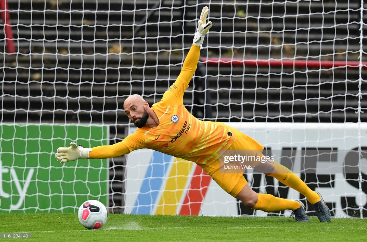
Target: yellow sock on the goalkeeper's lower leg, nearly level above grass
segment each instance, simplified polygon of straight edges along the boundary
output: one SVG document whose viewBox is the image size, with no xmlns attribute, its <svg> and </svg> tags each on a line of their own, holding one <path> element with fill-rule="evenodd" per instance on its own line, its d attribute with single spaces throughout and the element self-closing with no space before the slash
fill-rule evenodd
<svg viewBox="0 0 367 242">
<path fill-rule="evenodd" d="M 262 210 L 265 212 L 275 212 L 286 209 L 295 210 L 301 207 L 297 201 L 277 198 L 271 194 L 258 194 L 258 196 L 259 199 L 257 200 L 257 203 L 251 209 Z"/>
</svg>

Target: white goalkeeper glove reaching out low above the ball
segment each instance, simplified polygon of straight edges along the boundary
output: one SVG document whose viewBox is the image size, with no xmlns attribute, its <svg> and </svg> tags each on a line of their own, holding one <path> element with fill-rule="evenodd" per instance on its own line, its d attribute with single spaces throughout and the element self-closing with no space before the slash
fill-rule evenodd
<svg viewBox="0 0 367 242">
<path fill-rule="evenodd" d="M 88 159 L 91 148 L 77 146 L 75 142 L 70 143 L 70 147 L 59 147 L 55 157 L 60 163 L 75 161 L 76 159 Z"/>
</svg>

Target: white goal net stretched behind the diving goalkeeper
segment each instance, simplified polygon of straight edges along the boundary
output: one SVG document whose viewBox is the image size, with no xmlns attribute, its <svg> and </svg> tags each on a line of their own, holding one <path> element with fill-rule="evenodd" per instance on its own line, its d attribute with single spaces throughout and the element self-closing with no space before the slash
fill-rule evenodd
<svg viewBox="0 0 367 242">
<path fill-rule="evenodd" d="M 258 140 L 323 194 L 333 216 L 367 216 L 367 6 L 337 0 L 0 1 L 0 212 L 76 212 L 97 199 L 113 213 L 269 215 L 245 208 L 196 164 L 157 151 L 54 158 L 70 142 L 94 147 L 134 132 L 124 99 L 162 98 L 203 6 L 213 27 L 186 108 Z M 314 214 L 273 177 L 244 176 Z"/>
</svg>

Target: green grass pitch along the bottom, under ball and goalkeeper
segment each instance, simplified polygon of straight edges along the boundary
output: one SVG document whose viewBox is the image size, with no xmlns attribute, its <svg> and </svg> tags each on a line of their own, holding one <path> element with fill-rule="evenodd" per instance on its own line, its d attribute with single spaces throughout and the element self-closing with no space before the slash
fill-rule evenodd
<svg viewBox="0 0 367 242">
<path fill-rule="evenodd" d="M 367 241 L 365 219 L 296 223 L 288 217 L 204 217 L 109 214 L 87 230 L 72 213 L 1 214 L 0 232 L 31 232 L 2 241 Z"/>
</svg>

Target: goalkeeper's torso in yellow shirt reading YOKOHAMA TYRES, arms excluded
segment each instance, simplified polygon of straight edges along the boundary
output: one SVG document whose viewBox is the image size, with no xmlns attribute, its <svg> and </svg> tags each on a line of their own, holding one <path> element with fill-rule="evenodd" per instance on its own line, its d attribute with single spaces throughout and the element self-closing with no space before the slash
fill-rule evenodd
<svg viewBox="0 0 367 242">
<path fill-rule="evenodd" d="M 212 122 L 200 121 L 183 105 L 153 106 L 159 125 L 145 130 L 146 148 L 181 158 L 198 161 L 200 155 L 209 155 L 216 147 L 226 144 L 232 133 Z M 232 137 L 234 138 L 234 137 Z"/>
</svg>

